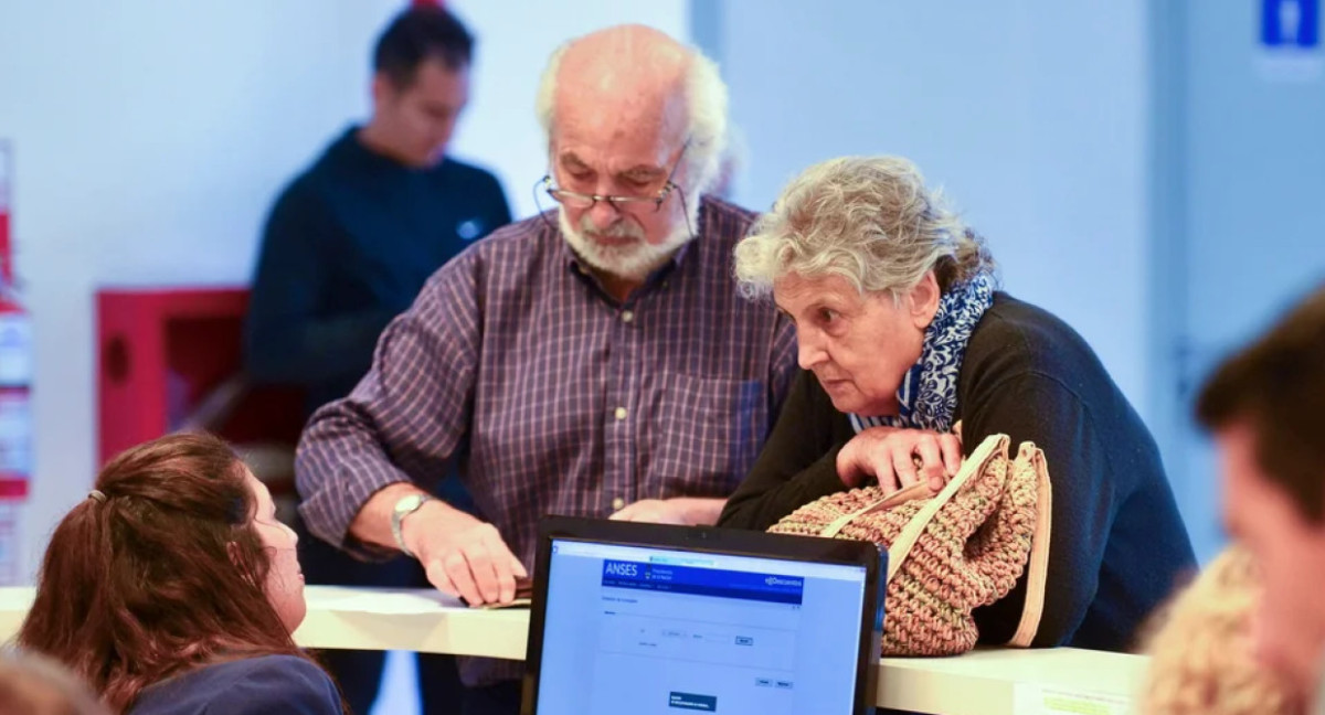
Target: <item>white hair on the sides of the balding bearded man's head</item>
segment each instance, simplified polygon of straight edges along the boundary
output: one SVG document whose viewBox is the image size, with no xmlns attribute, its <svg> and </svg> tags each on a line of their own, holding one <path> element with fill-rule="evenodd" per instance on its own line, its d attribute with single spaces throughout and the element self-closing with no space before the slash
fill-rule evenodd
<svg viewBox="0 0 1325 715">
<path fill-rule="evenodd" d="M 538 81 L 534 111 L 538 115 L 538 123 L 543 127 L 549 146 L 551 146 L 555 124 L 558 73 L 562 57 L 574 44 L 575 40 L 571 40 L 553 50 Z M 694 200 L 717 180 L 722 167 L 722 158 L 727 148 L 727 86 L 722 82 L 718 65 L 713 60 L 694 48 L 686 48 L 686 52 L 689 62 L 686 64 L 684 91 L 689 113 L 686 134 L 690 143 L 685 150 L 685 162 L 690 185 L 685 188 L 690 200 Z"/>
</svg>

